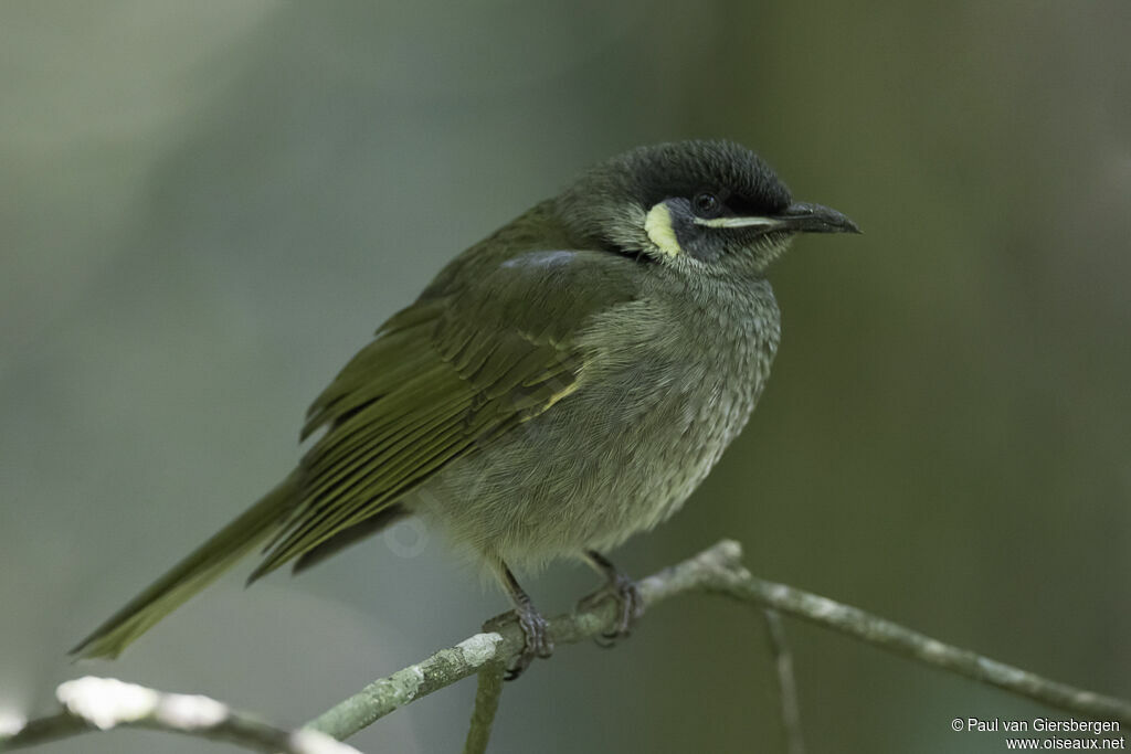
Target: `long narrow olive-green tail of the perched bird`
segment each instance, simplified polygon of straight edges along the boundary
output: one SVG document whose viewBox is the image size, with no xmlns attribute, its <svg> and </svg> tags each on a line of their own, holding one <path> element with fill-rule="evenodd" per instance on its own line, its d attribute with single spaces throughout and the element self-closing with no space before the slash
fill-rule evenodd
<svg viewBox="0 0 1131 754">
<path fill-rule="evenodd" d="M 271 489 L 238 519 L 200 545 L 70 650 L 78 657 L 118 657 L 135 639 L 215 581 L 285 521 L 295 477 Z"/>
</svg>

